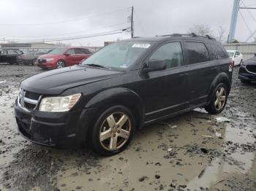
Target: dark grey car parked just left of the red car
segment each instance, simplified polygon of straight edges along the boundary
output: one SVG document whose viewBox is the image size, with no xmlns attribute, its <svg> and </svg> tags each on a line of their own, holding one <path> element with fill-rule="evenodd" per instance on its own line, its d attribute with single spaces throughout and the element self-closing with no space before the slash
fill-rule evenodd
<svg viewBox="0 0 256 191">
<path fill-rule="evenodd" d="M 32 51 L 32 52 L 26 52 L 23 55 L 18 55 L 18 62 L 24 65 L 36 65 L 37 58 L 40 55 L 45 55 L 48 52 L 38 52 L 38 51 Z"/>
</svg>

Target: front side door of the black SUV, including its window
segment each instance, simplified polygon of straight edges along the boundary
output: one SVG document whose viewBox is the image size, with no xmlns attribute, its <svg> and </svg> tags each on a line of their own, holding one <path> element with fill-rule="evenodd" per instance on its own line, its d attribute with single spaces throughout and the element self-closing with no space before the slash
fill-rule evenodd
<svg viewBox="0 0 256 191">
<path fill-rule="evenodd" d="M 167 69 L 148 73 L 143 100 L 146 119 L 152 120 L 187 108 L 187 69 L 181 42 L 167 42 L 159 45 L 148 61 L 165 61 Z"/>
</svg>

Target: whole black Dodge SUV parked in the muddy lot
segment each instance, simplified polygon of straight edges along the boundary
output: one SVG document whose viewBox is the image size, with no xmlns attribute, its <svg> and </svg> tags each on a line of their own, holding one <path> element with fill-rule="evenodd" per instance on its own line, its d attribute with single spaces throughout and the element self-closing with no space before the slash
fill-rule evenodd
<svg viewBox="0 0 256 191">
<path fill-rule="evenodd" d="M 210 36 L 173 34 L 110 44 L 78 66 L 21 82 L 18 129 L 36 144 L 89 140 L 95 152 L 114 155 L 151 122 L 197 107 L 222 112 L 232 66 Z"/>
</svg>

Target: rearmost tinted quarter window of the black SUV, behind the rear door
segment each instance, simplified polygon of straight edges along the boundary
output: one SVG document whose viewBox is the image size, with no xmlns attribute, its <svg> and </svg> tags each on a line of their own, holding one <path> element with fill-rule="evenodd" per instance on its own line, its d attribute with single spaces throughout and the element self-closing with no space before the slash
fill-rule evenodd
<svg viewBox="0 0 256 191">
<path fill-rule="evenodd" d="M 221 47 L 219 44 L 209 44 L 210 47 L 210 54 L 211 54 L 211 60 L 218 60 L 228 57 L 233 57 L 234 52 L 229 52 L 229 55 L 227 54 L 227 51 Z"/>
</svg>

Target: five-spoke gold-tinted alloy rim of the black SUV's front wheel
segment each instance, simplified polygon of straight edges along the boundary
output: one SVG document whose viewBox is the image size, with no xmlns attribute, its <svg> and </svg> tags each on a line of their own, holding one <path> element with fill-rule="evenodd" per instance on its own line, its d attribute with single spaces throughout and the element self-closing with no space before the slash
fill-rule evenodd
<svg viewBox="0 0 256 191">
<path fill-rule="evenodd" d="M 101 125 L 99 141 L 108 151 L 115 151 L 124 146 L 129 140 L 132 123 L 127 114 L 115 112 L 110 114 Z"/>
</svg>

